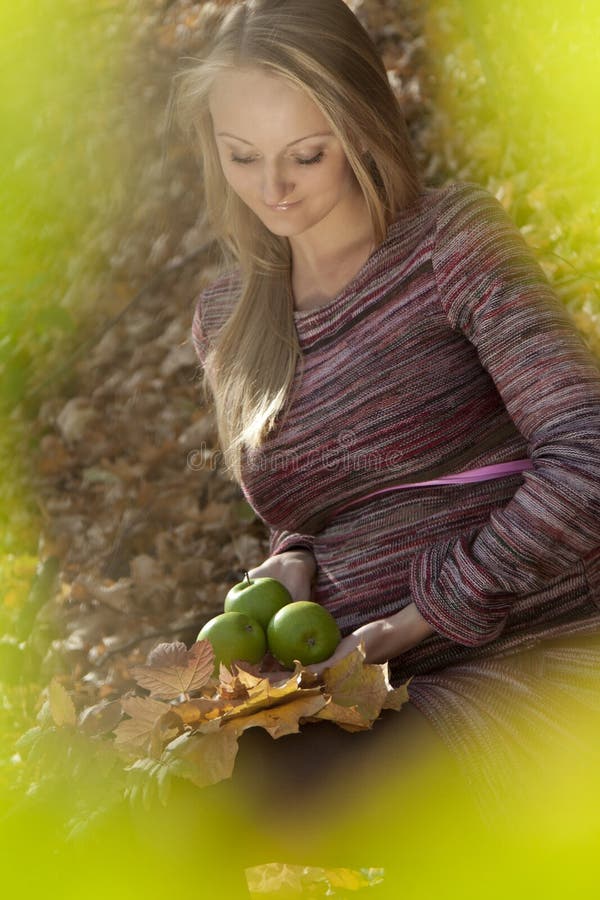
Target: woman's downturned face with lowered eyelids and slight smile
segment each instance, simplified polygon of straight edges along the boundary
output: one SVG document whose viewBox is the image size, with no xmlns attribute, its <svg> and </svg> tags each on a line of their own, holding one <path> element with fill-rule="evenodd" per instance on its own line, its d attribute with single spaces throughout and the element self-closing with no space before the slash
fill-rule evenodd
<svg viewBox="0 0 600 900">
<path fill-rule="evenodd" d="M 303 91 L 259 69 L 237 69 L 218 76 L 209 106 L 225 178 L 270 231 L 301 234 L 332 213 L 343 221 L 360 188 Z"/>
</svg>

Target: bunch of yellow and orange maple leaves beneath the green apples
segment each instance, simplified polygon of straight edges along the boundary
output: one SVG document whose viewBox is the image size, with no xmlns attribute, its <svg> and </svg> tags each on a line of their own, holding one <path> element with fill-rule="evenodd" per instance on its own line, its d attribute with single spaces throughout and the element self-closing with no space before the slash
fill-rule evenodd
<svg viewBox="0 0 600 900">
<path fill-rule="evenodd" d="M 406 685 L 393 688 L 388 664 L 366 664 L 364 649 L 326 670 L 319 678 L 296 663 L 293 672 L 259 674 L 258 667 L 220 666 L 208 641 L 188 650 L 181 642 L 158 644 L 147 663 L 131 668 L 147 691 L 103 701 L 76 714 L 73 701 L 57 679 L 48 687 L 49 712 L 55 726 L 67 725 L 88 737 L 114 734 L 114 747 L 129 770 L 152 770 L 165 780 L 175 775 L 198 787 L 229 778 L 238 738 L 260 727 L 280 738 L 303 723 L 328 720 L 347 731 L 372 727 L 383 709 L 400 710 L 408 700 Z M 140 772 L 141 774 L 141 772 Z M 160 795 L 159 791 L 159 795 Z"/>
</svg>

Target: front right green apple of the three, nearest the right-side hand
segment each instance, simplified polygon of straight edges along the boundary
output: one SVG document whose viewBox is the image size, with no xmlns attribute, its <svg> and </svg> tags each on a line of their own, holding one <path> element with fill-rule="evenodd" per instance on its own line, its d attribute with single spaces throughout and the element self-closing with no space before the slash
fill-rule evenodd
<svg viewBox="0 0 600 900">
<path fill-rule="evenodd" d="M 269 650 L 282 666 L 294 668 L 298 659 L 303 666 L 327 659 L 342 636 L 337 622 L 324 606 L 311 600 L 298 600 L 275 613 L 267 628 Z"/>
</svg>

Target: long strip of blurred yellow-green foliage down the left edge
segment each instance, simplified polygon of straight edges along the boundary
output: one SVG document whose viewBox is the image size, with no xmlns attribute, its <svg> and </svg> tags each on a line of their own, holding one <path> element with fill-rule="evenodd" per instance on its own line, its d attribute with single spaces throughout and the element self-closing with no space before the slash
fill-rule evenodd
<svg viewBox="0 0 600 900">
<path fill-rule="evenodd" d="M 20 679 L 30 648 L 14 637 L 42 521 L 31 478 L 39 400 L 28 392 L 89 327 L 90 285 L 112 249 L 110 226 L 127 194 L 124 51 L 135 5 L 0 5 L 1 785 L 11 776 L 4 749 L 31 721 L 41 689 Z"/>
</svg>

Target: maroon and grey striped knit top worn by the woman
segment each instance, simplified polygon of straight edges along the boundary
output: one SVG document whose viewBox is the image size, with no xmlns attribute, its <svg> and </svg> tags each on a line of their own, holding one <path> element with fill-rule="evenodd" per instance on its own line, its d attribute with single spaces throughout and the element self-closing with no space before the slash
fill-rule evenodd
<svg viewBox="0 0 600 900">
<path fill-rule="evenodd" d="M 201 362 L 239 288 L 199 297 Z M 294 313 L 304 373 L 244 456 L 272 554 L 317 561 L 343 634 L 413 601 L 435 634 L 392 681 L 600 630 L 600 369 L 520 232 L 482 188 L 425 189 L 326 305 Z M 392 484 L 529 457 L 531 471 Z"/>
</svg>

